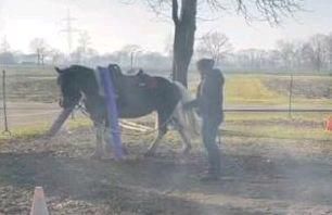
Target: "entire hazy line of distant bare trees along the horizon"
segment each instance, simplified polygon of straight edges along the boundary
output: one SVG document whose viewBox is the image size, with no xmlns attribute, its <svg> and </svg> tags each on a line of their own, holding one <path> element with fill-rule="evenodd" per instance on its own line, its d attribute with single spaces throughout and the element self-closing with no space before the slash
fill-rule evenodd
<svg viewBox="0 0 332 215">
<path fill-rule="evenodd" d="M 87 33 L 82 33 L 79 46 L 71 55 L 51 48 L 42 38 L 30 42 L 30 53 L 11 50 L 5 38 L 0 43 L 0 64 L 36 64 L 87 66 L 118 63 L 125 69 L 142 67 L 155 72 L 170 73 L 171 47 L 166 42 L 167 53 L 150 52 L 137 45 L 127 45 L 120 50 L 100 54 L 90 45 Z M 224 71 L 229 72 L 332 72 L 332 34 L 317 34 L 305 41 L 279 40 L 276 49 L 233 50 L 229 38 L 221 33 L 207 33 L 195 42 L 190 68 L 195 60 L 213 58 Z"/>
</svg>

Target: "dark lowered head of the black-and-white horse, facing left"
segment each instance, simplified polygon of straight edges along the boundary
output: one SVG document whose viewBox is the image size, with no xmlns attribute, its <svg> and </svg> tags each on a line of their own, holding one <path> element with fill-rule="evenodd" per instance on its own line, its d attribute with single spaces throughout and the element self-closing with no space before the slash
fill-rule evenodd
<svg viewBox="0 0 332 215">
<path fill-rule="evenodd" d="M 59 104 L 63 109 L 73 109 L 81 98 L 77 69 L 71 66 L 64 69 L 55 67 L 55 71 L 58 72 L 58 85 L 61 89 Z"/>
</svg>

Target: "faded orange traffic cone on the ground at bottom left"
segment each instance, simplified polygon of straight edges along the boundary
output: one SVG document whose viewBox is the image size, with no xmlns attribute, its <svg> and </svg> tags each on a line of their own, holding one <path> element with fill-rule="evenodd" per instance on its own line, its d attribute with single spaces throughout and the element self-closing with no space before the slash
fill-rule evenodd
<svg viewBox="0 0 332 215">
<path fill-rule="evenodd" d="M 42 187 L 36 187 L 30 215 L 49 215 Z"/>
</svg>

